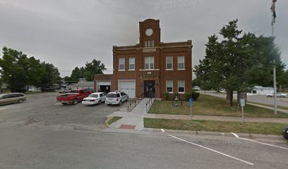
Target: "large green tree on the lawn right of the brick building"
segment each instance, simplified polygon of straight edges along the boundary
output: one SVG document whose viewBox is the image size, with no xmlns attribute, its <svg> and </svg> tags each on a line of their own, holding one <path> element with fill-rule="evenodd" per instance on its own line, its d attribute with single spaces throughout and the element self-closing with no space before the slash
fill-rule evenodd
<svg viewBox="0 0 288 169">
<path fill-rule="evenodd" d="M 274 38 L 242 34 L 237 22 L 232 20 L 222 27 L 221 42 L 215 35 L 208 37 L 205 58 L 194 70 L 205 89 L 226 89 L 229 106 L 232 106 L 233 91 L 239 94 L 255 84 L 272 84 L 273 59 L 278 77 L 284 75 L 284 64 Z"/>
</svg>

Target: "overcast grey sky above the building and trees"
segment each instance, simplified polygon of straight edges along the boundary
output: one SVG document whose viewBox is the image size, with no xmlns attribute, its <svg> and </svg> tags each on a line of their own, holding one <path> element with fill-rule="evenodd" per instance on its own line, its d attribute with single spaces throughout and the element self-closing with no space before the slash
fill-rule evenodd
<svg viewBox="0 0 288 169">
<path fill-rule="evenodd" d="M 112 73 L 112 46 L 139 42 L 139 22 L 160 20 L 161 42 L 192 40 L 192 65 L 208 36 L 238 18 L 244 32 L 272 34 L 271 0 L 0 0 L 0 47 L 54 64 L 61 77 L 97 59 Z M 278 0 L 274 35 L 288 67 L 288 1 Z M 287 68 L 286 67 L 286 68 Z"/>
</svg>

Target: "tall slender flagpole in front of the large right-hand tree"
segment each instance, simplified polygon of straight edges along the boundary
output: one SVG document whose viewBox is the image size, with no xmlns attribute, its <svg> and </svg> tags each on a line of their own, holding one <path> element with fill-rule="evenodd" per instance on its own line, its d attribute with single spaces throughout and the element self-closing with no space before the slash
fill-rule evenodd
<svg viewBox="0 0 288 169">
<path fill-rule="evenodd" d="M 274 37 L 274 29 L 275 29 L 275 2 L 274 4 L 272 4 L 272 23 L 271 23 L 271 28 L 272 28 L 272 37 Z M 274 60 L 273 60 L 273 86 L 274 86 L 274 114 L 277 115 L 277 96 L 276 96 L 276 59 L 274 56 Z"/>
</svg>

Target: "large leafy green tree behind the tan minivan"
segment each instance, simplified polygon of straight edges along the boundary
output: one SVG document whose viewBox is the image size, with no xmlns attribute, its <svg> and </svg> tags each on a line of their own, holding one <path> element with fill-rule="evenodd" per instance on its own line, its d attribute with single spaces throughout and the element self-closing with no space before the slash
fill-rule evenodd
<svg viewBox="0 0 288 169">
<path fill-rule="evenodd" d="M 40 63 L 21 51 L 3 47 L 0 58 L 1 79 L 12 92 L 23 92 L 28 85 L 36 87 L 61 83 L 58 68 L 51 63 Z"/>
</svg>

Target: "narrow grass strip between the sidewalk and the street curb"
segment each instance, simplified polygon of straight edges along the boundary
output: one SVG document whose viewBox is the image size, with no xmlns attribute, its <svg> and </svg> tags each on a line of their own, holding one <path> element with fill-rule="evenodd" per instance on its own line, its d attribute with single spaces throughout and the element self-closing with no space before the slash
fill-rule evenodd
<svg viewBox="0 0 288 169">
<path fill-rule="evenodd" d="M 282 129 L 287 124 L 280 123 L 244 123 L 223 122 L 209 120 L 170 120 L 144 118 L 144 127 L 168 129 L 168 130 L 191 130 L 207 132 L 236 132 L 250 134 L 274 134 L 281 135 Z"/>
</svg>

